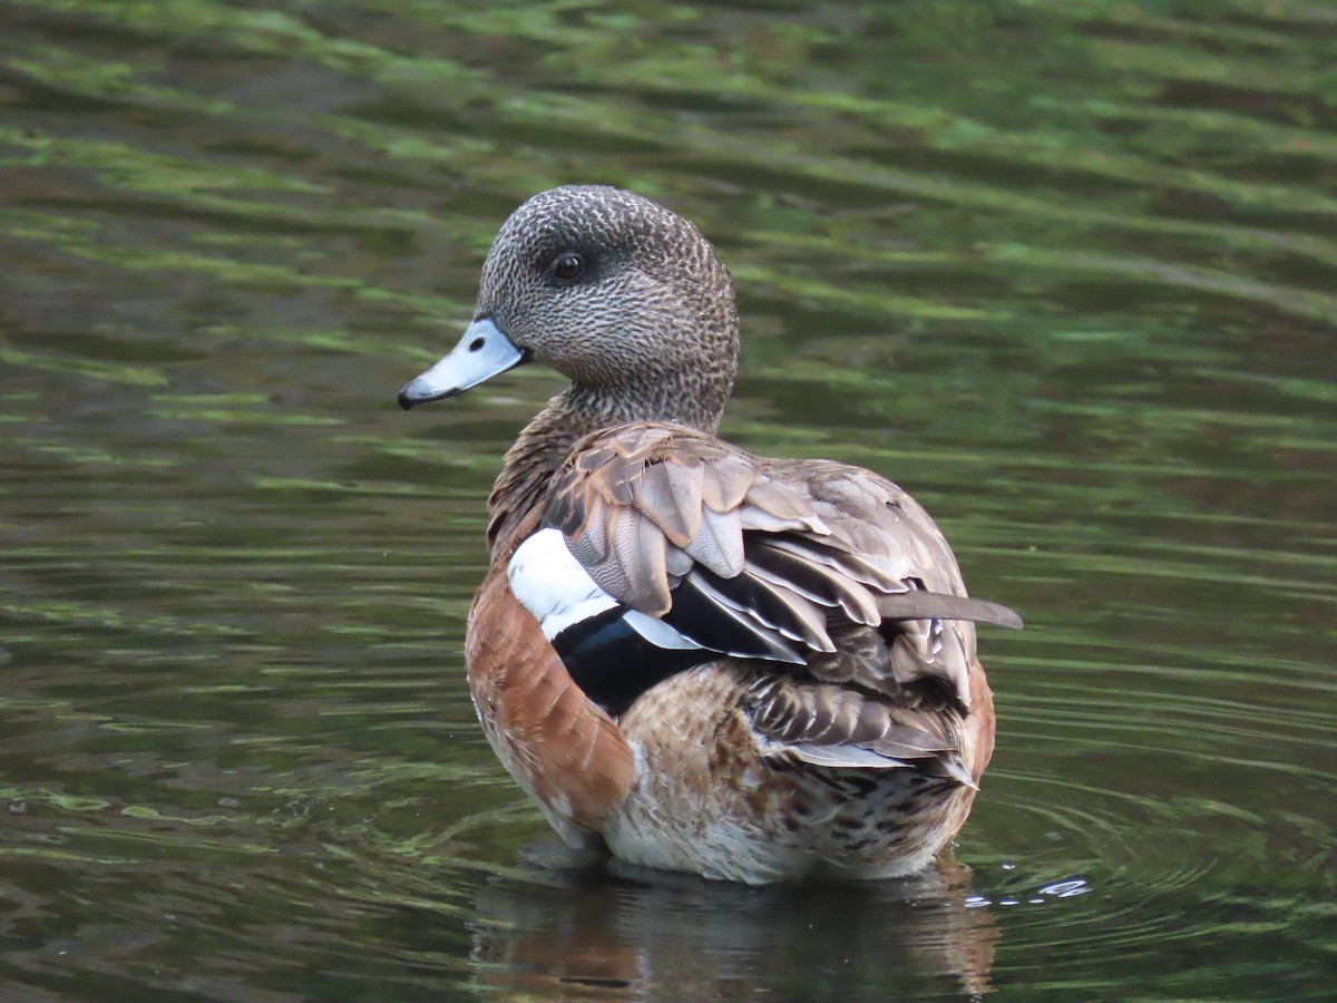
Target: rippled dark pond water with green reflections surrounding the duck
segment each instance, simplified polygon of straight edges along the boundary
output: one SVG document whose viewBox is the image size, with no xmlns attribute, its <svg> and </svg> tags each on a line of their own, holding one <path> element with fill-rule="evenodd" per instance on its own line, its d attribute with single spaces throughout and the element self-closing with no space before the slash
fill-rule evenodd
<svg viewBox="0 0 1337 1003">
<path fill-rule="evenodd" d="M 0 4 L 3 995 L 1330 999 L 1337 8 L 503 7 Z M 394 393 L 576 181 L 1025 617 L 937 872 L 528 863 L 461 643 L 559 384 Z"/>
</svg>

